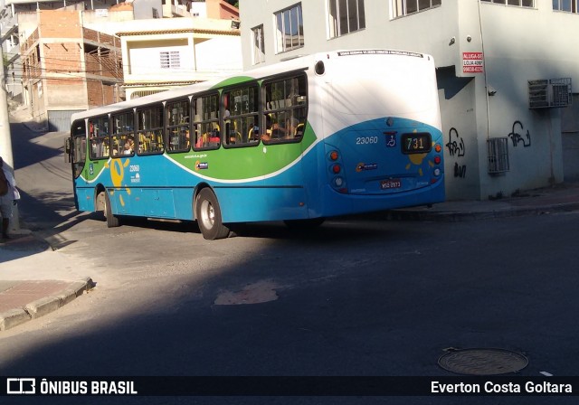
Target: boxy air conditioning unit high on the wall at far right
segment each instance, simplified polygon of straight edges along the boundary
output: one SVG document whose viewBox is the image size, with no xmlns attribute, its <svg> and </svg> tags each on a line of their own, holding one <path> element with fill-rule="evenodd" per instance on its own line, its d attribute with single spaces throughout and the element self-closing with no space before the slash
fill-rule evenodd
<svg viewBox="0 0 579 405">
<path fill-rule="evenodd" d="M 528 80 L 528 108 L 562 108 L 571 101 L 571 78 Z"/>
</svg>

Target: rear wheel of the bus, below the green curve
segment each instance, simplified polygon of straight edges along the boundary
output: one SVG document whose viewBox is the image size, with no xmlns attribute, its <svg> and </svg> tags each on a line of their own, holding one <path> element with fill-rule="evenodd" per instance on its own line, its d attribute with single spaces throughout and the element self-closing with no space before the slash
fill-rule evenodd
<svg viewBox="0 0 579 405">
<path fill-rule="evenodd" d="M 217 240 L 229 236 L 229 228 L 223 225 L 221 208 L 210 188 L 204 188 L 195 199 L 195 218 L 199 230 L 206 240 Z"/>
</svg>

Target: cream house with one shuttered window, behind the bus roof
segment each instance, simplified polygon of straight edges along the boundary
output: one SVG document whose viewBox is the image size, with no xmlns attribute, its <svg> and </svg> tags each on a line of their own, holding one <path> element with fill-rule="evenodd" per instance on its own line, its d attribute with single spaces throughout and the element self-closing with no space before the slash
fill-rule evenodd
<svg viewBox="0 0 579 405">
<path fill-rule="evenodd" d="M 119 30 L 127 99 L 242 71 L 240 32 L 231 20 L 134 20 Z"/>
</svg>

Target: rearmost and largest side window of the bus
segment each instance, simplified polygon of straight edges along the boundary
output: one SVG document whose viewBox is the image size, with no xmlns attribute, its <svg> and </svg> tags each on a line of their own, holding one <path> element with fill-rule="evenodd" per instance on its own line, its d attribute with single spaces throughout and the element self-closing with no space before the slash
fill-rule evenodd
<svg viewBox="0 0 579 405">
<path fill-rule="evenodd" d="M 265 84 L 265 108 L 261 131 L 265 144 L 299 142 L 304 134 L 308 113 L 305 75 Z"/>
</svg>

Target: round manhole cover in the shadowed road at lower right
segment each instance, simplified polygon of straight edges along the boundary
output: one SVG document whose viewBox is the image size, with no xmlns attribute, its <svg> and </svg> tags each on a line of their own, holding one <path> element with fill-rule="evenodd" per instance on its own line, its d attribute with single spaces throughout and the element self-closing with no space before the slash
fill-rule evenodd
<svg viewBox="0 0 579 405">
<path fill-rule="evenodd" d="M 521 353 L 504 349 L 458 349 L 443 354 L 439 365 L 449 372 L 470 375 L 498 375 L 527 367 Z"/>
</svg>

